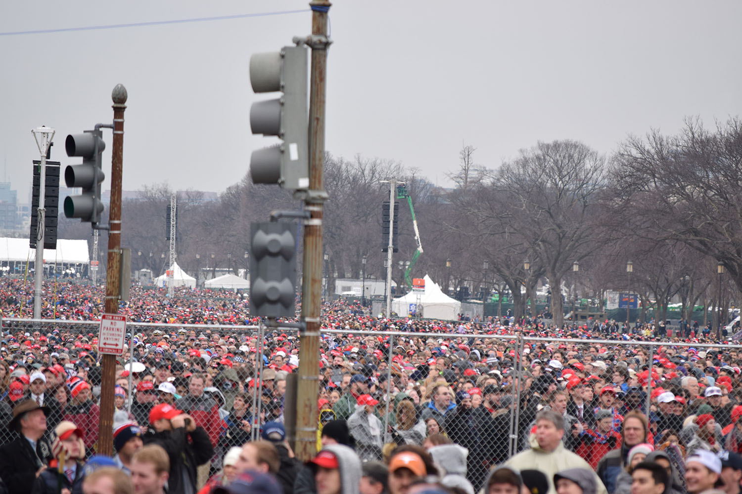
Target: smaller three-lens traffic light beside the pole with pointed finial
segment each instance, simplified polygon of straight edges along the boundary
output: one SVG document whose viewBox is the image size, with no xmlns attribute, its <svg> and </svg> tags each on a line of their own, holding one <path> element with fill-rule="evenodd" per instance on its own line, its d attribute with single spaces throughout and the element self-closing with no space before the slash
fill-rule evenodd
<svg viewBox="0 0 742 494">
<path fill-rule="evenodd" d="M 85 130 L 82 134 L 70 134 L 65 140 L 65 150 L 67 156 L 82 156 L 82 164 L 65 168 L 67 187 L 82 187 L 82 195 L 65 197 L 65 216 L 98 224 L 103 212 L 100 183 L 105 178 L 101 169 L 101 154 L 105 150 L 102 132 Z"/>
</svg>

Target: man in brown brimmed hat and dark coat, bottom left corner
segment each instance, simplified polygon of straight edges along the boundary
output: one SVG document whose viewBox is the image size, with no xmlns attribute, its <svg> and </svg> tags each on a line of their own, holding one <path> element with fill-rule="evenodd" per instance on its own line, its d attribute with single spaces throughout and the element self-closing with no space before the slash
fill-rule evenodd
<svg viewBox="0 0 742 494">
<path fill-rule="evenodd" d="M 0 447 L 0 478 L 10 493 L 30 493 L 36 475 L 52 458 L 51 448 L 43 438 L 47 430 L 47 407 L 27 399 L 13 409 L 7 429 L 19 437 Z"/>
</svg>

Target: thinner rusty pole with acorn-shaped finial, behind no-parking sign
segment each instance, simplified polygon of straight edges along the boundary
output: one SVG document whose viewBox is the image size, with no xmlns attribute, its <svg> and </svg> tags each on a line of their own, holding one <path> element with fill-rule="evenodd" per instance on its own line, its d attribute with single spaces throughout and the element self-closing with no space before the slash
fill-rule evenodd
<svg viewBox="0 0 742 494">
<path fill-rule="evenodd" d="M 105 313 L 119 312 L 121 271 L 121 178 L 124 157 L 124 110 L 126 88 L 116 84 L 111 99 L 114 101 L 114 150 L 111 153 L 111 204 L 109 207 L 108 264 L 105 270 Z M 131 349 L 130 349 L 131 350 Z M 116 356 L 101 356 L 102 384 L 100 387 L 100 427 L 97 453 L 111 456 L 114 447 L 114 387 L 116 385 Z"/>
</svg>

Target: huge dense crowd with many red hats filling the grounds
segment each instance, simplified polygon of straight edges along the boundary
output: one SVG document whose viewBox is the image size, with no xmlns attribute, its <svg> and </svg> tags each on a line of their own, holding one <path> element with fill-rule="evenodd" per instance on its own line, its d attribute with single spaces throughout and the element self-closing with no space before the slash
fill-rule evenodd
<svg viewBox="0 0 742 494">
<path fill-rule="evenodd" d="M 102 313 L 95 287 L 48 295 L 44 318 Z M 97 332 L 14 321 L 32 298 L 19 281 L 0 284 L 11 318 L 0 494 L 740 490 L 742 356 L 692 324 L 668 337 L 651 321 L 428 321 L 324 304 L 317 454 L 303 463 L 283 425 L 298 336 L 214 326 L 259 322 L 241 296 L 137 288 L 119 312 L 163 324 L 133 326 L 119 358 L 109 458 L 98 454 Z M 519 346 L 516 333 L 555 341 Z M 651 354 L 641 341 L 654 341 Z"/>
</svg>

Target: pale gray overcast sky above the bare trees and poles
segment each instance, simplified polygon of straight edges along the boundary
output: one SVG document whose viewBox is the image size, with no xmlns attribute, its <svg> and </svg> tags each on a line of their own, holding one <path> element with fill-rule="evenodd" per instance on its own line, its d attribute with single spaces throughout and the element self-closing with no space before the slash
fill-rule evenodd
<svg viewBox="0 0 742 494">
<path fill-rule="evenodd" d="M 0 36 L 0 178 L 27 201 L 30 130 L 110 122 L 128 90 L 124 188 L 221 192 L 249 169 L 252 53 L 311 30 L 306 0 L 0 4 L 0 33 L 302 10 L 225 21 Z M 462 144 L 496 167 L 538 140 L 610 153 L 628 133 L 742 114 L 742 2 L 338 0 L 326 149 L 400 161 L 444 186 Z M 104 131 L 106 173 L 111 133 Z M 110 188 L 110 182 L 104 183 Z"/>
</svg>

